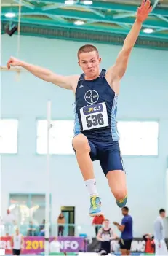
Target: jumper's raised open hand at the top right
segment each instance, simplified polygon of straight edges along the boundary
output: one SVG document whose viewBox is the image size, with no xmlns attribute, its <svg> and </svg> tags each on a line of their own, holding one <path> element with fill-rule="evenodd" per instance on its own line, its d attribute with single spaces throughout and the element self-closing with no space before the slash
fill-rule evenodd
<svg viewBox="0 0 168 256">
<path fill-rule="evenodd" d="M 151 1 L 150 0 L 143 0 L 141 6 L 137 9 L 137 21 L 143 23 L 144 20 L 148 18 L 149 13 L 151 12 Z"/>
</svg>

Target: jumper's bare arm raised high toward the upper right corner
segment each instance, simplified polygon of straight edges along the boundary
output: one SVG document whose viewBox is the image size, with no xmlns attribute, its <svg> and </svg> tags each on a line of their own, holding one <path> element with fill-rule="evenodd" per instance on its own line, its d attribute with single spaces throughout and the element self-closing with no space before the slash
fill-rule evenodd
<svg viewBox="0 0 168 256">
<path fill-rule="evenodd" d="M 135 23 L 133 24 L 131 31 L 124 40 L 124 45 L 116 59 L 116 63 L 114 66 L 108 69 L 108 77 L 111 83 L 113 83 L 115 79 L 121 79 L 124 76 L 124 73 L 127 69 L 129 55 L 135 45 L 135 42 L 137 41 L 137 37 L 140 34 L 143 21 L 148 18 L 151 9 L 152 7 L 150 0 L 143 0 L 141 7 L 137 9 L 137 17 Z"/>
</svg>

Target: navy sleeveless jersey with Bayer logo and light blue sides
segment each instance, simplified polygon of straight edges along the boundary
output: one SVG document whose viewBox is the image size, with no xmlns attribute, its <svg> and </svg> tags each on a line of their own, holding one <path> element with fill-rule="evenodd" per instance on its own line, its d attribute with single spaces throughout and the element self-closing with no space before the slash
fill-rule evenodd
<svg viewBox="0 0 168 256">
<path fill-rule="evenodd" d="M 117 99 L 118 96 L 105 79 L 105 69 L 93 80 L 85 80 L 84 74 L 81 74 L 74 107 L 75 136 L 83 133 L 87 139 L 118 141 Z"/>
</svg>

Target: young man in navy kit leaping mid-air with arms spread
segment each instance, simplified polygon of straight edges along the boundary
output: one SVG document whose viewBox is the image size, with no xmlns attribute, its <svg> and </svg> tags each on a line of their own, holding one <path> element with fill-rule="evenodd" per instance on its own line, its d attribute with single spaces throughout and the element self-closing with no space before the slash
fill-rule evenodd
<svg viewBox="0 0 168 256">
<path fill-rule="evenodd" d="M 61 76 L 13 57 L 7 63 L 8 69 L 10 66 L 22 66 L 44 81 L 73 90 L 76 97 L 73 149 L 89 191 L 90 216 L 102 214 L 92 166 L 94 160 L 100 161 L 117 205 L 123 207 L 127 203 L 126 175 L 116 128 L 117 98 L 129 55 L 151 9 L 151 2 L 143 0 L 116 63 L 108 71 L 103 69 L 100 72 L 101 58 L 97 48 L 88 44 L 78 51 L 79 66 L 84 72 L 81 76 Z"/>
</svg>

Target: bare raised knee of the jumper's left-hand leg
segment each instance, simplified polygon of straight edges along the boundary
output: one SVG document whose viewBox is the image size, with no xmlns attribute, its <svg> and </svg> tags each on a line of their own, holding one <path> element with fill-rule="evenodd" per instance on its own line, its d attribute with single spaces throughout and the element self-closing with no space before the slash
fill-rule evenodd
<svg viewBox="0 0 168 256">
<path fill-rule="evenodd" d="M 74 150 L 76 150 L 78 152 L 90 150 L 88 139 L 86 136 L 84 136 L 84 134 L 76 135 L 73 138 L 72 144 L 73 144 Z"/>
</svg>

